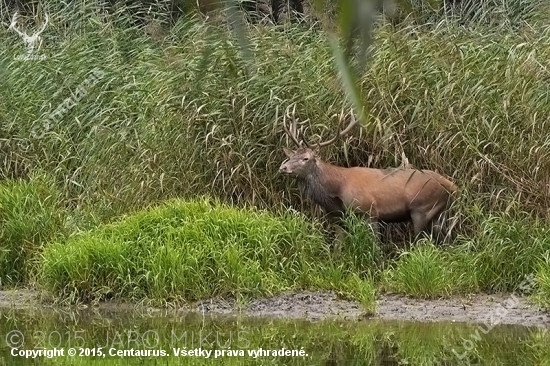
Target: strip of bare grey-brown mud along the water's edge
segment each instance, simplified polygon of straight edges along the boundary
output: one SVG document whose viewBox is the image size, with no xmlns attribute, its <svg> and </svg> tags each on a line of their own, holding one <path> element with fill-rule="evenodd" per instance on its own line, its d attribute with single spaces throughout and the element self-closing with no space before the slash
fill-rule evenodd
<svg viewBox="0 0 550 366">
<path fill-rule="evenodd" d="M 0 291 L 0 311 L 1 308 L 47 307 L 47 304 L 47 296 L 42 296 L 38 291 Z M 131 310 L 136 307 L 131 304 L 109 302 L 100 304 L 98 308 Z M 139 306 L 138 308 L 147 312 L 161 310 Z M 402 295 L 382 295 L 377 301 L 375 313 L 370 314 L 365 312 L 358 303 L 339 299 L 333 293 L 303 291 L 256 299 L 243 306 L 239 306 L 233 300 L 208 300 L 174 309 L 174 311 L 223 315 L 239 313 L 254 317 L 311 321 L 379 319 L 482 323 L 491 321 L 491 316 L 493 316 L 493 323 L 550 328 L 550 314 L 529 303 L 526 298 L 512 298 L 509 294 L 477 294 L 469 298 L 455 297 L 437 300 L 412 299 Z"/>
</svg>

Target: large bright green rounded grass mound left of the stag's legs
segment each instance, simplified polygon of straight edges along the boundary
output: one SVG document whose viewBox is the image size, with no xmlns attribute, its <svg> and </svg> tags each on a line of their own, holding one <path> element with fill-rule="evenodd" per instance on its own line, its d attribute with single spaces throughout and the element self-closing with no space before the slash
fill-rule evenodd
<svg viewBox="0 0 550 366">
<path fill-rule="evenodd" d="M 331 288 L 315 224 L 208 200 L 139 212 L 52 244 L 43 257 L 41 282 L 69 301 L 170 303 Z M 348 278 L 343 290 L 366 298 L 362 281 Z"/>
</svg>

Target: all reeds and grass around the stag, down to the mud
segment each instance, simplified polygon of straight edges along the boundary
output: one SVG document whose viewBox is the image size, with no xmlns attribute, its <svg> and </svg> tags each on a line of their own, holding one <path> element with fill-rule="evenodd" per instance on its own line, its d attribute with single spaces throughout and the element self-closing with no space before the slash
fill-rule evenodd
<svg viewBox="0 0 550 366">
<path fill-rule="evenodd" d="M 360 222 L 351 225 L 342 252 L 329 255 L 323 248 L 330 236 L 314 215 L 306 223 L 281 214 L 289 207 L 312 212 L 295 182 L 277 174 L 281 148 L 289 143 L 282 113 L 296 103 L 297 117 L 310 121 L 309 132 L 326 138 L 336 127 L 333 115 L 350 106 L 319 27 L 249 25 L 253 63 L 222 20 L 195 16 L 170 26 L 157 13 L 142 26 L 125 12 L 104 13 L 91 3 L 54 4 L 35 51 L 43 60 L 18 58 L 24 43 L 0 27 L 0 285 L 36 283 L 73 300 L 191 300 L 195 295 L 178 286 L 189 286 L 185 281 L 192 277 L 167 290 L 155 286 L 205 265 L 178 267 L 182 260 L 215 259 L 235 245 L 245 254 L 224 257 L 210 270 L 234 260 L 235 273 L 257 268 L 250 278 L 260 276 L 261 283 L 249 277 L 231 282 L 229 273 L 210 281 L 209 291 L 197 287 L 193 294 L 258 295 L 310 286 L 369 303 L 373 284 L 430 297 L 514 291 L 533 273 L 536 297 L 548 305 L 550 27 L 532 4 L 515 18 L 499 13 L 510 21 L 497 24 L 478 13 L 471 22 L 443 17 L 376 25 L 360 79 L 368 123 L 323 150 L 323 158 L 386 167 L 398 166 L 404 152 L 415 167 L 437 170 L 461 188 L 451 210 L 459 223 L 452 245 L 424 241 L 410 251 L 398 248 L 397 255 L 373 241 Z M 85 92 L 78 100 L 65 102 L 79 87 Z M 70 108 L 58 109 L 63 103 Z M 55 111 L 57 119 L 48 119 Z M 239 217 L 238 225 L 259 220 L 250 230 L 262 226 L 273 235 L 271 229 L 283 227 L 277 235 L 293 240 L 275 235 L 258 242 L 248 233 L 242 242 L 222 237 L 187 252 L 190 234 L 176 230 L 180 221 L 173 221 L 170 209 L 116 221 L 173 198 L 185 200 L 173 206 L 183 210 L 203 195 L 223 202 L 212 212 Z M 236 208 L 249 206 L 271 213 L 258 218 Z M 192 217 L 180 214 L 183 221 Z M 140 218 L 143 227 L 133 224 Z M 103 226 L 109 223 L 115 226 Z M 169 236 L 151 238 L 151 250 L 172 251 L 156 264 L 139 254 L 149 225 Z M 226 235 L 237 235 L 238 225 L 234 234 L 226 227 Z M 306 227 L 315 240 L 300 239 Z M 283 263 L 279 273 L 270 267 L 277 263 L 263 265 L 267 254 L 252 255 L 254 245 L 273 246 L 274 261 Z M 295 262 L 283 261 L 292 252 L 288 245 Z M 83 260 L 90 266 L 79 267 Z M 299 281 L 290 283 L 291 277 Z"/>
</svg>

